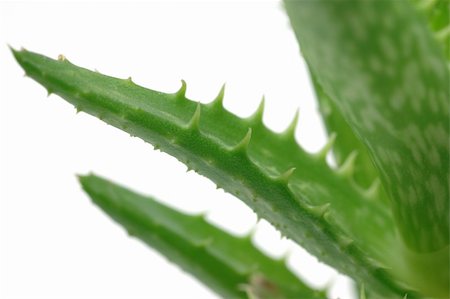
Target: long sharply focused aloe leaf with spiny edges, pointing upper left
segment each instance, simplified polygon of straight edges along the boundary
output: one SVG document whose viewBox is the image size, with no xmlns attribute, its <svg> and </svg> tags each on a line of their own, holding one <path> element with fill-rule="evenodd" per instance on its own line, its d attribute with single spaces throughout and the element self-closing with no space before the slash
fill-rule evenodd
<svg viewBox="0 0 450 299">
<path fill-rule="evenodd" d="M 185 84 L 165 94 L 62 57 L 13 53 L 27 75 L 49 92 L 176 157 L 320 260 L 380 294 L 404 294 L 383 268 L 383 259 L 397 258 L 400 246 L 390 214 L 351 184 L 351 164 L 334 171 L 325 153 L 304 152 L 293 126 L 283 134 L 268 130 L 262 109 L 238 118 L 224 110 L 223 91 L 205 105 L 186 99 Z"/>
</svg>

